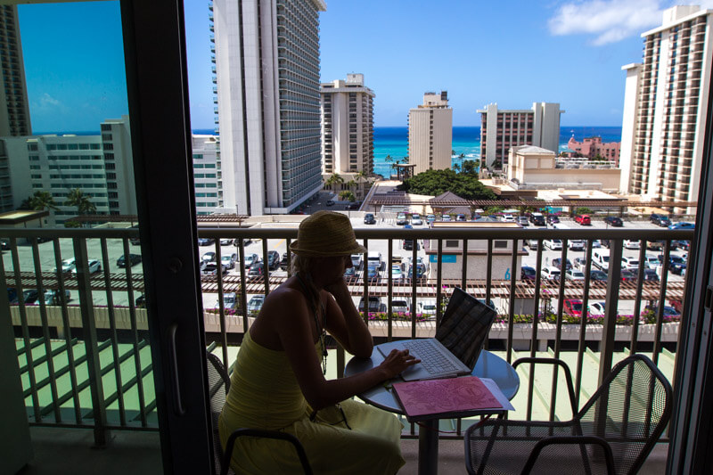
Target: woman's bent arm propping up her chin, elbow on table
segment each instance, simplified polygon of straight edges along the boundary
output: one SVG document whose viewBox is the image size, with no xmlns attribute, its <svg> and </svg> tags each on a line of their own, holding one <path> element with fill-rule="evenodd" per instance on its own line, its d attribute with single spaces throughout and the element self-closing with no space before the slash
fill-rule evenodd
<svg viewBox="0 0 713 475">
<path fill-rule="evenodd" d="M 372 356 L 372 333 L 364 319 L 356 311 L 347 283 L 333 283 L 324 289 L 334 298 L 327 296 L 326 329 L 349 353 L 362 358 Z"/>
</svg>

